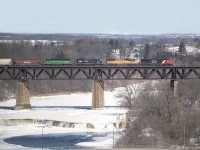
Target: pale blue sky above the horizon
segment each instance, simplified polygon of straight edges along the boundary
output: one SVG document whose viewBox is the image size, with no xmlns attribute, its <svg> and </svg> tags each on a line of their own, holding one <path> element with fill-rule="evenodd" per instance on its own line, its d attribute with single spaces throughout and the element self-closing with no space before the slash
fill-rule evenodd
<svg viewBox="0 0 200 150">
<path fill-rule="evenodd" d="M 200 33 L 200 0 L 0 0 L 0 32 Z"/>
</svg>

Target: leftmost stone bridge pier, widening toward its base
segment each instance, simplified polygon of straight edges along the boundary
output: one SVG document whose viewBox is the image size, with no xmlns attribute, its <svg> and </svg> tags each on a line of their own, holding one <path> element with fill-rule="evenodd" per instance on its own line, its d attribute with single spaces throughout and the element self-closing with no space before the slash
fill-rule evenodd
<svg viewBox="0 0 200 150">
<path fill-rule="evenodd" d="M 18 81 L 15 110 L 31 109 L 29 95 L 30 91 L 28 81 Z"/>
</svg>

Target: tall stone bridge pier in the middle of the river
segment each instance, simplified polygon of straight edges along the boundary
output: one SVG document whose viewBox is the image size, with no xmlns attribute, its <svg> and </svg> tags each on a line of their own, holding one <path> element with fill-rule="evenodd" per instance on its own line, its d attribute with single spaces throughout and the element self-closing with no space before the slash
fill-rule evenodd
<svg viewBox="0 0 200 150">
<path fill-rule="evenodd" d="M 103 109 L 104 107 L 104 82 L 94 80 L 92 93 L 92 109 Z"/>
</svg>

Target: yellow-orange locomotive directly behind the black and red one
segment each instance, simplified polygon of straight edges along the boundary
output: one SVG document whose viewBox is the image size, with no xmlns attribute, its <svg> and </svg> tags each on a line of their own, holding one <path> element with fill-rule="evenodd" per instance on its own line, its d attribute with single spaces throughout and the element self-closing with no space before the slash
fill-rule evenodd
<svg viewBox="0 0 200 150">
<path fill-rule="evenodd" d="M 107 65 L 139 65 L 140 61 L 136 59 L 107 59 Z"/>
</svg>

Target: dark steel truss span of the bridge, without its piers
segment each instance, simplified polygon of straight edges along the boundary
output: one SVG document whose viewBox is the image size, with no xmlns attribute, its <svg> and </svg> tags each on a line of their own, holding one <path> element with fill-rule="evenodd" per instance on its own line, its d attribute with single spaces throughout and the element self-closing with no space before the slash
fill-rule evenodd
<svg viewBox="0 0 200 150">
<path fill-rule="evenodd" d="M 200 67 L 183 66 L 0 66 L 0 80 L 200 79 Z"/>
</svg>

